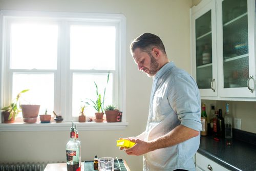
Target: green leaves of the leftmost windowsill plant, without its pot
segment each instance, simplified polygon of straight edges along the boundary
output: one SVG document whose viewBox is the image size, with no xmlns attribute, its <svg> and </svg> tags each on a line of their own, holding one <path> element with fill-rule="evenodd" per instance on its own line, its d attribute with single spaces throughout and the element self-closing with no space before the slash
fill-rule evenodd
<svg viewBox="0 0 256 171">
<path fill-rule="evenodd" d="M 20 96 L 22 95 L 22 93 L 25 93 L 29 91 L 28 89 L 27 90 L 23 90 L 21 92 L 19 92 L 16 96 L 15 99 L 12 100 L 12 102 L 10 103 L 10 105 L 8 106 L 5 106 L 4 108 L 2 108 L 1 110 L 4 111 L 4 112 L 10 112 L 10 115 L 8 117 L 8 120 L 10 120 L 13 116 L 14 116 L 14 119 L 16 118 L 16 116 L 18 115 L 18 113 L 20 112 L 20 108 L 19 108 L 19 98 Z"/>
</svg>

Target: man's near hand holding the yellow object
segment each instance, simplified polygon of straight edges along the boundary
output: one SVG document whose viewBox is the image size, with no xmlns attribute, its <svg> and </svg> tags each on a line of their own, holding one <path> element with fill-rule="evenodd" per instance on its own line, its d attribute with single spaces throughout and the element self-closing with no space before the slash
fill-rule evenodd
<svg viewBox="0 0 256 171">
<path fill-rule="evenodd" d="M 150 143 L 148 143 L 146 141 L 142 141 L 140 139 L 129 138 L 128 140 L 135 142 L 136 144 L 131 148 L 124 148 L 124 151 L 127 155 L 140 156 L 140 155 L 150 152 Z"/>
</svg>

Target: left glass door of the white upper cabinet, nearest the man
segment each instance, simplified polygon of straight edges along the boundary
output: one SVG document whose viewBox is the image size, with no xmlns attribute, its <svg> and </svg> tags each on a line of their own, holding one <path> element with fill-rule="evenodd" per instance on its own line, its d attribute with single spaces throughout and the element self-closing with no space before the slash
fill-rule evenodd
<svg viewBox="0 0 256 171">
<path fill-rule="evenodd" d="M 191 15 L 193 77 L 201 98 L 217 97 L 216 2 L 210 1 Z M 193 11 L 192 11 L 193 12 Z"/>
</svg>

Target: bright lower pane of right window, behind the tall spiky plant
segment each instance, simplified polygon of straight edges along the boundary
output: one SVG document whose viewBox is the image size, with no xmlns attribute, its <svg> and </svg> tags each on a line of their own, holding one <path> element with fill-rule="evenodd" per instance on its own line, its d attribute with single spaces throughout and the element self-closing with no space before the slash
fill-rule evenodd
<svg viewBox="0 0 256 171">
<path fill-rule="evenodd" d="M 92 102 L 88 99 L 96 101 L 96 87 L 94 81 L 98 86 L 98 93 L 101 94 L 101 99 L 103 100 L 104 88 L 105 91 L 105 102 L 106 105 L 112 104 L 113 99 L 113 75 L 110 73 L 109 83 L 106 85 L 108 73 L 94 73 L 94 74 L 73 74 L 73 105 L 72 114 L 73 116 L 79 115 L 79 109 L 82 105 L 82 101 L 88 101 L 90 104 Z M 88 106 L 88 105 L 87 105 Z M 94 116 L 96 110 L 93 105 L 88 106 L 85 109 L 86 116 Z"/>
</svg>

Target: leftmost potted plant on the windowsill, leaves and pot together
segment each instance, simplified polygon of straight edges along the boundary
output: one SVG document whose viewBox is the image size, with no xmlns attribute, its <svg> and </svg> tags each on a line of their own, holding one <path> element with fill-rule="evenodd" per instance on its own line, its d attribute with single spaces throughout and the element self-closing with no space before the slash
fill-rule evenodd
<svg viewBox="0 0 256 171">
<path fill-rule="evenodd" d="M 5 106 L 2 108 L 2 114 L 4 116 L 4 123 L 13 123 L 16 119 L 16 116 L 20 112 L 19 108 L 19 98 L 22 95 L 22 93 L 25 93 L 29 90 L 23 90 L 19 92 L 14 100 L 10 103 L 10 105 Z"/>
</svg>

